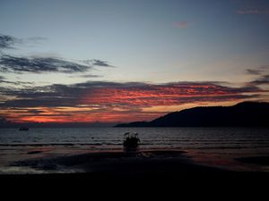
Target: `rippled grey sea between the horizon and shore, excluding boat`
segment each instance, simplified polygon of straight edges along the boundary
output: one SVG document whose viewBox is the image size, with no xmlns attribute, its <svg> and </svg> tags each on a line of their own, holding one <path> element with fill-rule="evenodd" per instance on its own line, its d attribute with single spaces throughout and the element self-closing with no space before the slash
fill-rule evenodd
<svg viewBox="0 0 269 201">
<path fill-rule="evenodd" d="M 127 131 L 143 148 L 237 149 L 269 147 L 269 129 L 245 128 L 59 128 L 0 130 L 0 145 L 80 145 L 121 148 Z"/>
</svg>

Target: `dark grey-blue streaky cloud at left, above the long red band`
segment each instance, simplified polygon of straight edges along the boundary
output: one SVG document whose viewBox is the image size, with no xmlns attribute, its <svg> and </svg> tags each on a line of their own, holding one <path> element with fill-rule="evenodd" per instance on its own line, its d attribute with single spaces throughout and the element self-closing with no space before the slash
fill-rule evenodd
<svg viewBox="0 0 269 201">
<path fill-rule="evenodd" d="M 65 61 L 53 57 L 18 57 L 4 54 L 0 57 L 0 71 L 3 72 L 83 72 L 91 66 Z"/>
</svg>

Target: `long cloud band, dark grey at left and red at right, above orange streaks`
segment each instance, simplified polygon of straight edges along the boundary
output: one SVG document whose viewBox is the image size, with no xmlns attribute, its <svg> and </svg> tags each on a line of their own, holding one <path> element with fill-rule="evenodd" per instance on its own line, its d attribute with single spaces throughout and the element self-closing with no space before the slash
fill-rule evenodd
<svg viewBox="0 0 269 201">
<path fill-rule="evenodd" d="M 5 89 L 5 96 L 16 96 L 1 107 L 56 107 L 100 105 L 144 107 L 181 105 L 197 101 L 225 101 L 252 98 L 246 93 L 262 92 L 255 86 L 229 88 L 211 82 L 177 82 L 152 85 L 142 82 L 91 81 L 74 85 L 51 85 L 23 89 Z"/>
</svg>

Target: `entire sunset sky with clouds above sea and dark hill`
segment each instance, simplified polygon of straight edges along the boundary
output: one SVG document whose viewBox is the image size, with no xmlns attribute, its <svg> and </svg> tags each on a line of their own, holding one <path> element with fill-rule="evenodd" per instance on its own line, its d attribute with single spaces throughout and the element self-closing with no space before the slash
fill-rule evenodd
<svg viewBox="0 0 269 201">
<path fill-rule="evenodd" d="M 0 121 L 150 121 L 269 101 L 267 0 L 0 0 Z"/>
</svg>

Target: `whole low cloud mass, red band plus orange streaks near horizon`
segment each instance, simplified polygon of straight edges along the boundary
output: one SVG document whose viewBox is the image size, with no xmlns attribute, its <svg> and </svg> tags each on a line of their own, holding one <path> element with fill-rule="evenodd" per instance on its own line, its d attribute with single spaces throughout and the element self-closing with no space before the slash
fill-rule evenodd
<svg viewBox="0 0 269 201">
<path fill-rule="evenodd" d="M 100 121 L 101 118 L 103 121 L 106 118 L 109 121 L 149 120 L 160 113 L 143 112 L 144 108 L 239 101 L 258 97 L 263 92 L 255 86 L 229 88 L 214 82 L 147 84 L 103 81 L 3 88 L 1 91 L 9 98 L 0 102 L 0 115 L 13 121 L 56 120 L 53 116 L 61 116 L 62 121 L 67 121 L 66 117 L 68 121 Z"/>
</svg>

